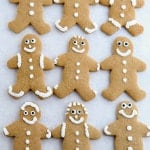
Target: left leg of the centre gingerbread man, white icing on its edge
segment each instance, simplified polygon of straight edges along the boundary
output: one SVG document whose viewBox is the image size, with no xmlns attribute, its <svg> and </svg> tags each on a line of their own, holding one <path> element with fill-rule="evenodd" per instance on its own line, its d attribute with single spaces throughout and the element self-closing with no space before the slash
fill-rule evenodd
<svg viewBox="0 0 150 150">
<path fill-rule="evenodd" d="M 71 83 L 71 82 L 70 82 Z M 54 87 L 54 94 L 59 98 L 64 98 L 73 92 L 74 88 L 70 84 L 66 84 L 65 82 L 61 82 L 59 85 Z"/>
</svg>

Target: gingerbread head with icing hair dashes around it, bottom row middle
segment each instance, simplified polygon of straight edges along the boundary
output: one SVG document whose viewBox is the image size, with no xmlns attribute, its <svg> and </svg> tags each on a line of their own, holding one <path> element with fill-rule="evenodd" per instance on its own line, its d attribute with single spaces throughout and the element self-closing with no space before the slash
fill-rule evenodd
<svg viewBox="0 0 150 150">
<path fill-rule="evenodd" d="M 87 110 L 83 104 L 72 102 L 68 105 L 66 119 L 73 124 L 81 124 L 87 120 Z"/>
</svg>

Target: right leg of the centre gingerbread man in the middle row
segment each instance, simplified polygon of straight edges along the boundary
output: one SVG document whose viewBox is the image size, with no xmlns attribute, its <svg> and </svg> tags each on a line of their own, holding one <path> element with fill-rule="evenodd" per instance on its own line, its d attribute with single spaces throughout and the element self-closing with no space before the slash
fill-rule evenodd
<svg viewBox="0 0 150 150">
<path fill-rule="evenodd" d="M 93 91 L 89 85 L 83 85 L 76 88 L 81 98 L 85 101 L 90 101 L 96 96 L 96 92 Z"/>
</svg>

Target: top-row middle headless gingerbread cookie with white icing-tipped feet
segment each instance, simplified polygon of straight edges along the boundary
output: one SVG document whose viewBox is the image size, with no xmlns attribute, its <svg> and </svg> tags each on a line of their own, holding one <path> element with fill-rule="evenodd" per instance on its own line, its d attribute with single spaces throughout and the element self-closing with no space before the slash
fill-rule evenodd
<svg viewBox="0 0 150 150">
<path fill-rule="evenodd" d="M 64 15 L 55 23 L 60 31 L 66 32 L 75 24 L 78 24 L 86 33 L 97 30 L 97 25 L 89 16 L 89 5 L 99 3 L 99 0 L 54 0 L 54 2 L 64 5 Z"/>
</svg>

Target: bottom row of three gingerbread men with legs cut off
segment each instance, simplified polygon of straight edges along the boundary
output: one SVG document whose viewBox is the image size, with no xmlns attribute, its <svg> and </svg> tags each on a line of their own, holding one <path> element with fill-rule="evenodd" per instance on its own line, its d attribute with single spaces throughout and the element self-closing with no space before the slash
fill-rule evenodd
<svg viewBox="0 0 150 150">
<path fill-rule="evenodd" d="M 115 136 L 115 150 L 142 150 L 142 137 L 150 136 L 150 127 L 137 119 L 137 107 L 123 101 L 117 107 L 117 121 L 104 128 L 106 135 Z M 3 129 L 6 136 L 15 138 L 14 150 L 41 150 L 41 139 L 63 139 L 63 150 L 90 150 L 90 140 L 100 138 L 101 133 L 87 123 L 88 113 L 83 104 L 71 102 L 66 110 L 66 121 L 52 132 L 38 123 L 39 107 L 26 102 L 22 105 L 20 117 Z"/>
</svg>

